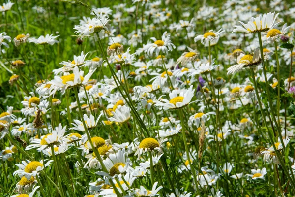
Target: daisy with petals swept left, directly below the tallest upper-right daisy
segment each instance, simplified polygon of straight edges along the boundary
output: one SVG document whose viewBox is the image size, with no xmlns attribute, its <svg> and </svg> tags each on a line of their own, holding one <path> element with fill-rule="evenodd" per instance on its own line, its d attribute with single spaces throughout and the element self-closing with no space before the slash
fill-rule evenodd
<svg viewBox="0 0 295 197">
<path fill-rule="evenodd" d="M 231 66 L 227 69 L 227 74 L 235 74 L 245 68 L 254 68 L 261 63 L 259 49 L 256 48 L 253 54 L 245 55 L 241 53 L 236 60 L 236 65 Z"/>
</svg>

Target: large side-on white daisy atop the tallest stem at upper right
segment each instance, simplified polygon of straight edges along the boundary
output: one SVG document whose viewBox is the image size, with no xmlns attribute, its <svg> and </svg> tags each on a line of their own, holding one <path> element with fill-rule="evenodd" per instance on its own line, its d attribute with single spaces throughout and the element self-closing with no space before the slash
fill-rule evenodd
<svg viewBox="0 0 295 197">
<path fill-rule="evenodd" d="M 268 30 L 272 29 L 274 26 L 276 26 L 278 23 L 275 23 L 275 19 L 279 15 L 277 13 L 274 15 L 275 12 L 269 12 L 264 15 L 259 15 L 258 17 L 254 18 L 252 17 L 251 20 L 245 24 L 241 21 L 239 21 L 242 26 L 234 25 L 236 29 L 233 30 L 234 32 L 245 32 L 245 33 L 257 33 L 257 32 L 267 32 Z"/>
</svg>

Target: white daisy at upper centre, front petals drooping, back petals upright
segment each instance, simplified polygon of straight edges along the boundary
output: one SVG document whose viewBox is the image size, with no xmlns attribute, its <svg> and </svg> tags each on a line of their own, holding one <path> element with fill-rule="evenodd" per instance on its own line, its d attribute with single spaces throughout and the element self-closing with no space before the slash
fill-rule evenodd
<svg viewBox="0 0 295 197">
<path fill-rule="evenodd" d="M 159 55 L 160 52 L 168 54 L 168 51 L 175 49 L 175 45 L 170 40 L 170 35 L 166 37 L 166 34 L 167 32 L 164 32 L 162 40 L 157 40 L 154 37 L 150 38 L 154 43 L 145 45 L 144 51 L 147 52 L 148 55 L 152 55 L 154 52 L 156 55 Z"/>
</svg>

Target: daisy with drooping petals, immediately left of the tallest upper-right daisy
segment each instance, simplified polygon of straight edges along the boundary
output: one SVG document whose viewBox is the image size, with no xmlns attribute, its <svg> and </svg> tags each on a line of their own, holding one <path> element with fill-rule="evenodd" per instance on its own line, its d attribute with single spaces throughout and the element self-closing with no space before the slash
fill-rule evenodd
<svg viewBox="0 0 295 197">
<path fill-rule="evenodd" d="M 195 37 L 195 42 L 201 40 L 201 43 L 204 45 L 204 46 L 209 46 L 209 43 L 210 43 L 210 46 L 213 46 L 215 44 L 217 44 L 219 38 L 220 38 L 220 34 L 221 33 L 224 33 L 225 30 L 218 30 L 217 32 L 213 32 L 213 30 L 210 30 L 209 32 L 207 33 L 204 33 L 204 35 L 198 35 L 197 37 Z"/>
</svg>

